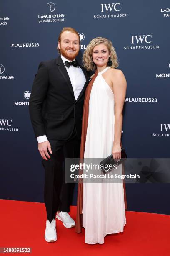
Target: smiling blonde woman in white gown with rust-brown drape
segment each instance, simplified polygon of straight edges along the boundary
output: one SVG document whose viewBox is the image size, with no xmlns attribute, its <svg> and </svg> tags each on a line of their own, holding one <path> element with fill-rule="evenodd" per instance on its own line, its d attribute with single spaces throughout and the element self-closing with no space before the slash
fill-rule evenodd
<svg viewBox="0 0 170 256">
<path fill-rule="evenodd" d="M 84 67 L 95 71 L 85 93 L 80 158 L 121 158 L 122 109 L 126 80 L 112 43 L 97 37 L 83 55 Z M 122 164 L 117 166 L 122 173 Z M 82 205 L 83 195 L 83 205 Z M 79 183 L 76 231 L 85 228 L 85 243 L 104 243 L 106 234 L 123 232 L 126 223 L 122 183 Z"/>
</svg>

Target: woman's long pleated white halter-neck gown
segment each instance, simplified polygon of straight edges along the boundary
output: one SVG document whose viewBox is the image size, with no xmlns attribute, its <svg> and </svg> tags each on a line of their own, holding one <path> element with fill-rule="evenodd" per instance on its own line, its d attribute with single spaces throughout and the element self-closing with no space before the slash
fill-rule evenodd
<svg viewBox="0 0 170 256">
<path fill-rule="evenodd" d="M 106 158 L 114 140 L 114 95 L 99 72 L 89 100 L 84 158 Z M 122 174 L 122 164 L 117 167 Z M 117 173 L 116 172 L 116 173 Z M 84 183 L 82 224 L 85 243 L 104 243 L 106 234 L 123 232 L 126 224 L 123 183 Z"/>
</svg>

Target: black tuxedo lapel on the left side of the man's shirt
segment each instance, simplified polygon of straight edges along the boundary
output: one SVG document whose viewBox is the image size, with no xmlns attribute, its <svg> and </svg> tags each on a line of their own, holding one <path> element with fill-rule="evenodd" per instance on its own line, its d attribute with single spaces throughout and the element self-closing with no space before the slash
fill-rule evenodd
<svg viewBox="0 0 170 256">
<path fill-rule="evenodd" d="M 72 94 L 72 96 L 75 98 L 74 96 L 74 91 L 72 89 L 72 84 L 71 84 L 71 81 L 70 81 L 70 77 L 67 73 L 67 70 L 65 68 L 65 65 L 61 59 L 61 56 L 59 56 L 57 59 L 56 59 L 56 64 L 57 64 L 57 67 L 62 75 L 62 77 L 65 79 L 65 81 L 67 82 L 67 86 L 68 88 L 70 89 L 70 92 Z"/>
</svg>

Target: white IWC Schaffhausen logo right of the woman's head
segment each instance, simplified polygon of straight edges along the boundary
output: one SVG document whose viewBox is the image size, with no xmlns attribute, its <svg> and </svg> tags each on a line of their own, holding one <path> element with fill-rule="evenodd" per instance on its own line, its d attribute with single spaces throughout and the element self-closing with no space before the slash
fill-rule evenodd
<svg viewBox="0 0 170 256">
<path fill-rule="evenodd" d="M 152 40 L 152 35 L 132 35 L 131 46 L 124 46 L 124 50 L 159 49 L 159 45 L 150 45 Z"/>
</svg>

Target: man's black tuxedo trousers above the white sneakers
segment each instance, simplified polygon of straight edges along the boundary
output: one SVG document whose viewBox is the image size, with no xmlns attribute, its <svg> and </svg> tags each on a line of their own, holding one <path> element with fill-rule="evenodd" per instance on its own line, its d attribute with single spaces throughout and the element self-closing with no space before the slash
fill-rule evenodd
<svg viewBox="0 0 170 256">
<path fill-rule="evenodd" d="M 69 141 L 49 140 L 51 159 L 42 160 L 45 168 L 44 202 L 47 219 L 55 219 L 57 211 L 70 212 L 75 184 L 65 183 L 65 158 L 80 157 L 80 140 L 75 136 Z"/>
</svg>

